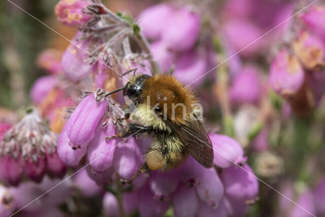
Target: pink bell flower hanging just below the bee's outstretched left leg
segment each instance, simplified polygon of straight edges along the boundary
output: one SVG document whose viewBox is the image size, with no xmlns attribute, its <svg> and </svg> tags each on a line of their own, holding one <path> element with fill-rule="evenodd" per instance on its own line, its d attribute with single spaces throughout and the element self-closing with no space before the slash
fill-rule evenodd
<svg viewBox="0 0 325 217">
<path fill-rule="evenodd" d="M 114 149 L 117 139 L 110 139 L 106 142 L 105 137 L 116 134 L 112 119 L 105 128 L 100 128 L 88 144 L 88 161 L 96 172 L 104 172 L 113 164 Z"/>
</svg>

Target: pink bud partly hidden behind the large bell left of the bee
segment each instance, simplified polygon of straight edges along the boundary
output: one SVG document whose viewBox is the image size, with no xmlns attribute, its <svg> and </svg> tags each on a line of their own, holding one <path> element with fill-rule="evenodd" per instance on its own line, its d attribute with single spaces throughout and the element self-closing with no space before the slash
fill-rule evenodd
<svg viewBox="0 0 325 217">
<path fill-rule="evenodd" d="M 73 149 L 69 144 L 70 139 L 67 135 L 67 131 L 68 125 L 66 124 L 63 127 L 58 139 L 57 154 L 64 163 L 69 166 L 76 167 L 78 166 L 80 160 L 85 156 L 87 146 L 81 145 L 80 148 Z"/>
</svg>

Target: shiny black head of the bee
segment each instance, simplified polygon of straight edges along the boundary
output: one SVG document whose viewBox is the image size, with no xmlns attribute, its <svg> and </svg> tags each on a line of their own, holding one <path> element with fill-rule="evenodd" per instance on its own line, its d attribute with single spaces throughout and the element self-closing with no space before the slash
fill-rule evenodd
<svg viewBox="0 0 325 217">
<path fill-rule="evenodd" d="M 139 97 L 142 92 L 142 87 L 146 79 L 149 77 L 149 75 L 141 75 L 135 80 L 134 83 L 130 84 L 130 82 L 127 82 L 127 84 L 125 85 L 126 88 L 123 89 L 123 96 L 128 97 L 133 102 L 139 101 Z"/>
</svg>

